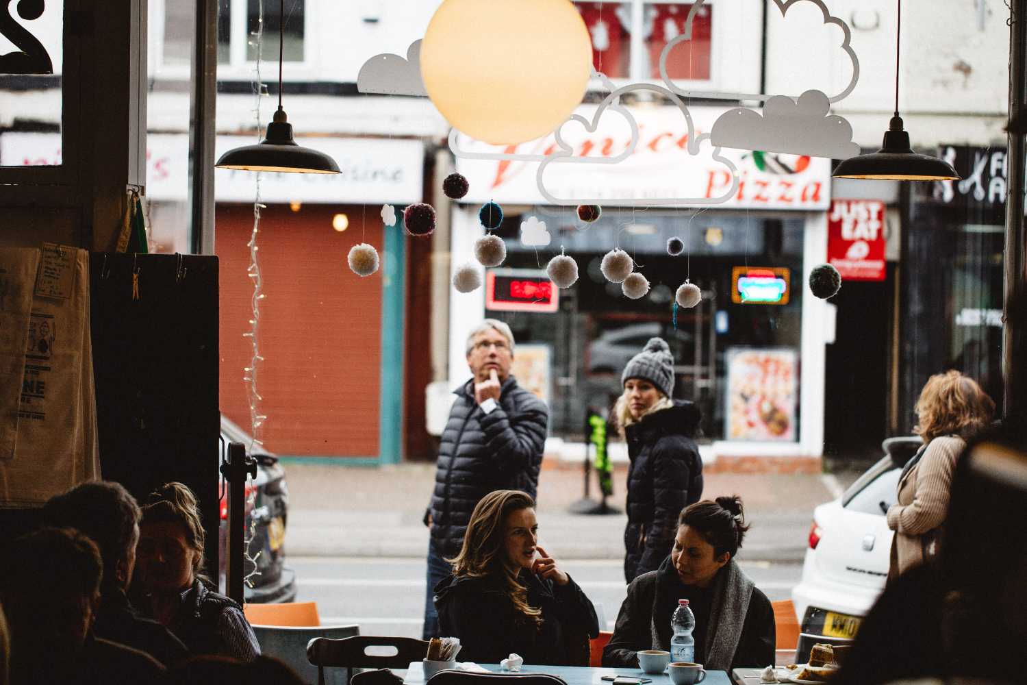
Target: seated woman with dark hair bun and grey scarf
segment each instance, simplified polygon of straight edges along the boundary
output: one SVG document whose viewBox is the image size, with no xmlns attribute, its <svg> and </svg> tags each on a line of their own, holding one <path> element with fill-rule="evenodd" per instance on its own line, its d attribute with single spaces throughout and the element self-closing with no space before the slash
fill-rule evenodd
<svg viewBox="0 0 1027 685">
<path fill-rule="evenodd" d="M 603 665 L 638 668 L 639 651 L 670 650 L 678 600 L 695 614 L 696 662 L 728 672 L 773 663 L 773 608 L 734 561 L 748 530 L 737 496 L 686 507 L 671 555 L 627 585 Z"/>
</svg>

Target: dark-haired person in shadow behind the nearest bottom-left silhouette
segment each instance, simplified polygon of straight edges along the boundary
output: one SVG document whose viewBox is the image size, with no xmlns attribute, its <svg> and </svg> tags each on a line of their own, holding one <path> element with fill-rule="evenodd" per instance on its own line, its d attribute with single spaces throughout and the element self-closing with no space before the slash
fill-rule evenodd
<svg viewBox="0 0 1027 685">
<path fill-rule="evenodd" d="M 43 506 L 43 520 L 58 528 L 75 528 L 100 547 L 104 580 L 93 633 L 144 651 L 164 665 L 188 656 L 182 641 L 155 620 L 145 618 L 125 594 L 136 567 L 139 505 L 118 483 L 84 483 Z"/>
</svg>

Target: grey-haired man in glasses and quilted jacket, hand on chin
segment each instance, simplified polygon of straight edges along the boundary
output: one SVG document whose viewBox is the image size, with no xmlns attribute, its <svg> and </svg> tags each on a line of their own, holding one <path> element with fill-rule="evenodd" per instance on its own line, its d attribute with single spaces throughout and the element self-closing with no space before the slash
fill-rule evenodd
<svg viewBox="0 0 1027 685">
<path fill-rule="evenodd" d="M 514 334 L 502 321 L 487 318 L 467 336 L 473 378 L 456 390 L 424 515 L 430 529 L 425 640 L 438 637 L 433 589 L 453 572 L 445 560 L 460 551 L 478 502 L 494 490 L 536 496 L 549 413 L 509 375 L 512 361 Z"/>
</svg>

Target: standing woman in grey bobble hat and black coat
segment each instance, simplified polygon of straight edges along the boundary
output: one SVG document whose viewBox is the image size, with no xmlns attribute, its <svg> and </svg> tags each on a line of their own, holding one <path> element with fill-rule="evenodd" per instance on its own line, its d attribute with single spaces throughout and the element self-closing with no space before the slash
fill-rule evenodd
<svg viewBox="0 0 1027 685">
<path fill-rule="evenodd" d="M 627 442 L 627 527 L 624 579 L 655 571 L 671 554 L 678 515 L 702 496 L 702 460 L 695 433 L 702 418 L 690 402 L 673 401 L 674 357 L 652 338 L 620 377 L 614 409 Z"/>
</svg>

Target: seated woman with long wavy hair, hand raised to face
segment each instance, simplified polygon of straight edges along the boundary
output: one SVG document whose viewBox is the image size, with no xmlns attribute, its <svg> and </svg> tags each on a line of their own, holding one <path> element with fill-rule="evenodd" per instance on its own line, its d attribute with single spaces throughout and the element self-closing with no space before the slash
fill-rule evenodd
<svg viewBox="0 0 1027 685">
<path fill-rule="evenodd" d="M 599 637 L 592 602 L 538 546 L 535 501 L 497 490 L 474 507 L 453 564 L 434 587 L 442 635 L 460 639 L 460 659 L 498 663 L 511 652 L 525 663 L 587 665 Z"/>
</svg>

